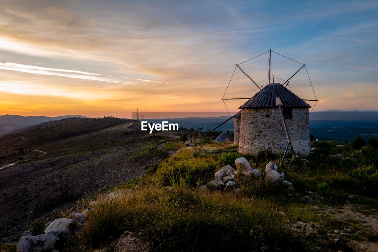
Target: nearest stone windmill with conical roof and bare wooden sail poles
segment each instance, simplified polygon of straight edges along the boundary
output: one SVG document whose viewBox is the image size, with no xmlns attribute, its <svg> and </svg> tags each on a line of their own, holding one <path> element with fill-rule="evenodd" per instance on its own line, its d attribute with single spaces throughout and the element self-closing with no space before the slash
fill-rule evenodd
<svg viewBox="0 0 378 252">
<path fill-rule="evenodd" d="M 283 84 L 271 83 L 271 53 L 275 52 L 269 50 L 266 53 L 268 52 L 270 54 L 269 77 L 266 86 L 262 88 L 257 85 L 256 82 L 254 82 L 253 79 L 240 68 L 239 64 L 236 65 L 235 70 L 236 68 L 239 68 L 260 89 L 260 91 L 251 98 L 224 98 L 223 96 L 222 100 L 247 100 L 239 107 L 240 111 L 234 116 L 230 116 L 228 119 L 231 120 L 231 118 L 234 118 L 234 140 L 235 143 L 239 143 L 239 152 L 242 154 L 257 154 L 260 150 L 268 149 L 270 147 L 274 152 L 283 152 L 282 163 L 289 148 L 293 152 L 295 158 L 297 158 L 296 153 L 304 155 L 310 154 L 308 109 L 311 106 L 305 101 L 318 102 L 318 100 L 301 99 L 287 89 L 289 80 L 302 68 L 305 68 L 305 64 L 301 63 L 302 67 L 287 81 L 283 82 Z M 259 56 L 263 54 L 260 54 Z M 217 128 L 219 126 L 217 126 Z"/>
</svg>

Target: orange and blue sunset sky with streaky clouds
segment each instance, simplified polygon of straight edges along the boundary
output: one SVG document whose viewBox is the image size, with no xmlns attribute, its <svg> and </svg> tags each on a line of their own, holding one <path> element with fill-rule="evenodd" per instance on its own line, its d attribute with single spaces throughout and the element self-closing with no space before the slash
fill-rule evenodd
<svg viewBox="0 0 378 252">
<path fill-rule="evenodd" d="M 224 112 L 235 64 L 269 49 L 306 64 L 314 111 L 378 110 L 378 1 L 0 4 L 1 115 Z M 266 53 L 240 67 L 261 86 L 268 62 Z M 301 66 L 272 54 L 275 82 Z M 314 99 L 305 68 L 290 88 Z M 237 69 L 225 98 L 257 91 Z"/>
</svg>

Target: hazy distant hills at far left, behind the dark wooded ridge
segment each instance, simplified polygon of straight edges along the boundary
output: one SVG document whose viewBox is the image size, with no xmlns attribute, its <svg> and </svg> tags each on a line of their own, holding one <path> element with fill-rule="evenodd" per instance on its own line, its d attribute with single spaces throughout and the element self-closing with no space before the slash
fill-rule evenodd
<svg viewBox="0 0 378 252">
<path fill-rule="evenodd" d="M 70 117 L 88 118 L 82 115 L 63 115 L 60 117 L 23 117 L 22 115 L 0 115 L 0 135 L 12 132 L 16 129 L 22 129 L 31 125 L 45 123 L 47 121 L 56 121 Z"/>
</svg>

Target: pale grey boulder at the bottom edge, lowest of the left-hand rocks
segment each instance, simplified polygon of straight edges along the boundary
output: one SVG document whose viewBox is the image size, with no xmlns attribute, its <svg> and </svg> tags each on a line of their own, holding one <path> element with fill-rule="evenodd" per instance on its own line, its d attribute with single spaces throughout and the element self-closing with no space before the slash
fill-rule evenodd
<svg viewBox="0 0 378 252">
<path fill-rule="evenodd" d="M 42 250 L 53 249 L 59 238 L 51 234 L 36 236 L 22 236 L 17 246 L 18 252 L 40 252 Z"/>
</svg>

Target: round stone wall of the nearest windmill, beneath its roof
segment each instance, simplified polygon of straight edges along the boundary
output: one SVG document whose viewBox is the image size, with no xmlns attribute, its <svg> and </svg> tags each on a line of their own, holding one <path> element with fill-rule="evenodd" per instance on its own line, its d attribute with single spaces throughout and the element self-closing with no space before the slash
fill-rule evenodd
<svg viewBox="0 0 378 252">
<path fill-rule="evenodd" d="M 292 108 L 292 118 L 285 121 L 294 151 L 310 154 L 308 108 Z M 269 147 L 273 153 L 283 153 L 286 146 L 287 137 L 278 107 L 242 109 L 239 134 L 241 154 L 257 154 L 259 150 Z"/>
</svg>

